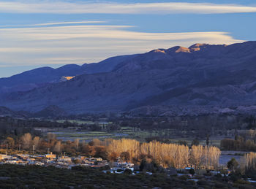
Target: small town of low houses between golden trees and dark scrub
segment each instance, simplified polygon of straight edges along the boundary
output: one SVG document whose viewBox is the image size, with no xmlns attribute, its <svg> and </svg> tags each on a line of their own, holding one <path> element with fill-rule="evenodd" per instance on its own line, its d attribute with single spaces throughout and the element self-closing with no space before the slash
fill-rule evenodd
<svg viewBox="0 0 256 189">
<path fill-rule="evenodd" d="M 89 168 L 101 168 L 101 170 L 105 173 L 117 173 L 121 174 L 124 172 L 129 172 L 130 174 L 138 174 L 141 170 L 141 164 L 135 165 L 135 163 L 129 163 L 128 161 L 121 160 L 120 157 L 116 158 L 116 161 L 108 161 L 103 160 L 102 158 L 94 158 L 94 157 L 86 157 L 86 156 L 78 156 L 78 157 L 69 157 L 67 155 L 56 155 L 53 153 L 48 153 L 45 155 L 29 155 L 29 154 L 15 154 L 15 155 L 7 155 L 0 154 L 0 164 L 16 164 L 22 166 L 54 166 L 60 169 L 72 169 L 75 166 L 84 166 Z M 219 171 L 216 171 L 216 170 Z M 167 167 L 165 169 L 162 168 L 162 171 L 170 175 L 178 174 L 189 174 L 189 177 L 192 177 L 195 173 L 204 174 L 206 172 L 211 173 L 213 175 L 221 174 L 222 177 L 225 174 L 230 174 L 232 170 L 230 170 L 227 165 L 219 165 L 217 169 L 214 166 L 200 166 L 199 170 L 195 172 L 195 166 L 183 166 L 180 169 L 174 169 Z M 145 171 L 146 174 L 153 174 L 150 171 Z"/>
</svg>

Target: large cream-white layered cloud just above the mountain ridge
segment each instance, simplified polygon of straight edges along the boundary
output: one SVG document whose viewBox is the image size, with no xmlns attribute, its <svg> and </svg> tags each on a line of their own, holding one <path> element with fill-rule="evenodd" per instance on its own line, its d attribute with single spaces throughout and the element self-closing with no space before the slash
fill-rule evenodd
<svg viewBox="0 0 256 189">
<path fill-rule="evenodd" d="M 145 53 L 197 42 L 242 42 L 225 32 L 146 33 L 132 26 L 39 26 L 0 28 L 1 65 L 10 66 L 91 63 L 114 55 Z"/>
</svg>

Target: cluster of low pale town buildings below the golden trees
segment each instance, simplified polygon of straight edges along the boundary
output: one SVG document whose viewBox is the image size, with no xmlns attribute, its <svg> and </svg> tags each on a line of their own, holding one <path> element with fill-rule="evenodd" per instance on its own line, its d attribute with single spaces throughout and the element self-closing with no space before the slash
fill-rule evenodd
<svg viewBox="0 0 256 189">
<path fill-rule="evenodd" d="M 15 154 L 15 155 L 2 155 L 0 154 L 0 164 L 18 164 L 23 166 L 37 165 L 37 166 L 55 166 L 62 169 L 72 169 L 73 166 L 86 166 L 93 168 L 106 168 L 103 169 L 105 173 L 122 174 L 125 171 L 129 171 L 130 174 L 138 174 L 140 167 L 134 165 L 134 163 L 129 163 L 127 161 L 121 161 L 120 158 L 116 162 L 108 162 L 102 158 L 88 158 L 86 156 L 79 157 L 69 157 L 67 155 L 57 156 L 53 153 L 48 153 L 45 155 L 27 155 L 27 154 Z M 107 168 L 108 167 L 108 168 Z M 128 170 L 127 170 L 128 169 Z M 190 169 L 192 167 L 186 167 L 180 169 L 183 174 L 190 174 Z M 177 169 L 167 168 L 165 169 L 168 175 L 177 174 Z M 218 174 L 220 171 L 211 171 L 212 174 Z M 229 172 L 227 171 L 227 174 Z M 152 174 L 151 172 L 146 172 L 146 174 Z M 198 174 L 198 173 L 197 173 Z M 177 174 L 181 176 L 182 174 Z"/>
</svg>

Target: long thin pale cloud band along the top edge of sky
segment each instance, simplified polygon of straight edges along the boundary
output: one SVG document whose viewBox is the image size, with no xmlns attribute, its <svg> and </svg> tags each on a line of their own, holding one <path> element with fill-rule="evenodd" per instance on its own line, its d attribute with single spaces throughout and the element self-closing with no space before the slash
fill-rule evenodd
<svg viewBox="0 0 256 189">
<path fill-rule="evenodd" d="M 256 12 L 256 7 L 210 3 L 115 3 L 83 1 L 0 1 L 0 12 L 53 14 L 219 14 Z"/>
</svg>

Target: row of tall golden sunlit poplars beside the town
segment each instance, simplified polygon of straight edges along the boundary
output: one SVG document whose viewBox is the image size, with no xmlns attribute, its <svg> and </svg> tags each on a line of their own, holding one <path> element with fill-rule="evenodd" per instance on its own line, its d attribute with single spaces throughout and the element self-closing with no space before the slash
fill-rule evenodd
<svg viewBox="0 0 256 189">
<path fill-rule="evenodd" d="M 127 159 L 133 162 L 157 161 L 164 167 L 177 169 L 186 166 L 218 166 L 221 151 L 217 147 L 193 145 L 191 148 L 181 144 L 166 144 L 157 141 L 140 143 L 135 139 L 112 140 L 108 145 L 108 157 L 115 160 L 127 153 Z"/>
</svg>

